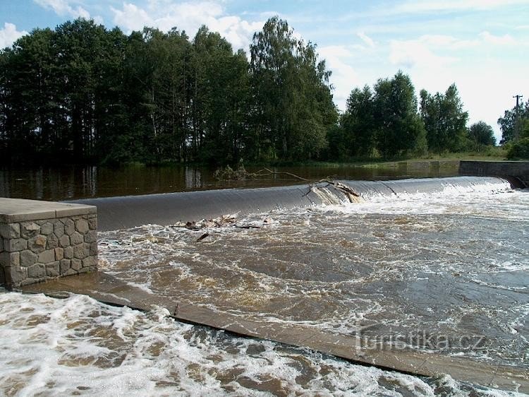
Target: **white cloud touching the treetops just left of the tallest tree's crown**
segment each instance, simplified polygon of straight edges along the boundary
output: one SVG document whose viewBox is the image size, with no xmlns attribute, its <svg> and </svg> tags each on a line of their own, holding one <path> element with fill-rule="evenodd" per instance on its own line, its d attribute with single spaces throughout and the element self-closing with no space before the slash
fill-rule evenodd
<svg viewBox="0 0 529 397">
<path fill-rule="evenodd" d="M 221 4 L 210 1 L 177 3 L 171 0 L 150 0 L 145 8 L 123 3 L 121 9 L 111 8 L 114 23 L 130 32 L 144 26 L 163 31 L 178 28 L 193 35 L 201 25 L 219 32 L 234 48 L 248 47 L 253 33 L 262 28 L 262 22 L 248 22 L 239 16 L 228 16 Z"/>
</svg>

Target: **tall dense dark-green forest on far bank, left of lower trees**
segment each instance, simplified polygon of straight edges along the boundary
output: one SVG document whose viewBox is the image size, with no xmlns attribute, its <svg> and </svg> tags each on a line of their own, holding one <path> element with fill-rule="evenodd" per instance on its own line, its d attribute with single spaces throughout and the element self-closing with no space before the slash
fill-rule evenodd
<svg viewBox="0 0 529 397">
<path fill-rule="evenodd" d="M 206 27 L 33 30 L 0 54 L 2 158 L 317 158 L 338 114 L 315 46 L 271 18 L 250 55 Z"/>
</svg>

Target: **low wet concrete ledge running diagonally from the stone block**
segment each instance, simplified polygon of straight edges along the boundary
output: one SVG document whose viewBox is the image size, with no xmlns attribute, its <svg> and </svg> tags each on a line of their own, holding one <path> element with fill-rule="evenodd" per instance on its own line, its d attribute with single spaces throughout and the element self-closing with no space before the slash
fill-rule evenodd
<svg viewBox="0 0 529 397">
<path fill-rule="evenodd" d="M 491 365 L 468 357 L 449 357 L 433 352 L 410 349 L 370 350 L 363 348 L 355 336 L 344 336 L 293 324 L 262 324 L 244 316 L 219 313 L 186 300 L 179 301 L 135 288 L 102 272 L 89 273 L 29 285 L 24 292 L 42 292 L 54 297 L 67 297 L 68 292 L 89 295 L 101 302 L 140 310 L 154 305 L 165 307 L 179 321 L 211 326 L 242 336 L 263 338 L 288 345 L 318 350 L 364 365 L 375 365 L 408 374 L 429 377 L 450 374 L 454 379 L 509 391 L 529 393 L 529 368 Z"/>
</svg>

